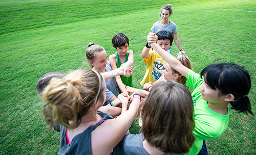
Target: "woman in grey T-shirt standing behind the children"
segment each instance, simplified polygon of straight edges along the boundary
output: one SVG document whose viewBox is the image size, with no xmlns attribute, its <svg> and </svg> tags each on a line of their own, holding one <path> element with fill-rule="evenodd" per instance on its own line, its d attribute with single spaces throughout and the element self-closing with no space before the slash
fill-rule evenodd
<svg viewBox="0 0 256 155">
<path fill-rule="evenodd" d="M 161 8 L 161 13 L 160 13 L 161 20 L 157 21 L 153 25 L 151 30 L 153 33 L 157 33 L 162 30 L 169 31 L 170 33 L 172 33 L 172 35 L 174 37 L 174 42 L 180 50 L 179 55 L 181 54 L 181 56 L 182 56 L 186 52 L 181 48 L 180 40 L 177 35 L 178 28 L 177 28 L 176 24 L 173 21 L 169 20 L 169 16 L 172 14 L 173 14 L 173 6 L 170 4 L 164 5 Z M 169 50 L 167 51 L 168 53 L 172 52 L 171 48 L 172 48 L 172 42 L 170 43 Z"/>
</svg>

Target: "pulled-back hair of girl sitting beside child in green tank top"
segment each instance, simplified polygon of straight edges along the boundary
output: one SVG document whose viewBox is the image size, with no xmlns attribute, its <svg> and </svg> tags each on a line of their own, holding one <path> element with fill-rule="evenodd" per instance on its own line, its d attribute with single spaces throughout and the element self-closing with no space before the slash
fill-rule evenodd
<svg viewBox="0 0 256 155">
<path fill-rule="evenodd" d="M 88 45 L 88 48 L 86 50 L 86 57 L 87 57 L 88 61 L 94 61 L 95 53 L 101 52 L 103 50 L 104 50 L 104 48 L 102 48 L 101 46 L 95 45 L 93 42 L 91 42 Z M 92 65 L 91 65 L 91 68 L 93 68 Z"/>
</svg>

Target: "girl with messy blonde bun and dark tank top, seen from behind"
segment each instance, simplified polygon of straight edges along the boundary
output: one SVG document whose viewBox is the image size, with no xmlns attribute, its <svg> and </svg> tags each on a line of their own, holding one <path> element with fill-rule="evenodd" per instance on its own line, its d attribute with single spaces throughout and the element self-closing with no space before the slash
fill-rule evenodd
<svg viewBox="0 0 256 155">
<path fill-rule="evenodd" d="M 42 98 L 46 120 L 52 120 L 47 123 L 61 124 L 58 154 L 110 154 L 124 137 L 137 116 L 140 96 L 134 94 L 130 108 L 112 119 L 98 110 L 106 97 L 105 88 L 102 76 L 88 69 L 51 79 Z M 127 105 L 128 97 L 120 94 L 118 98 Z"/>
</svg>

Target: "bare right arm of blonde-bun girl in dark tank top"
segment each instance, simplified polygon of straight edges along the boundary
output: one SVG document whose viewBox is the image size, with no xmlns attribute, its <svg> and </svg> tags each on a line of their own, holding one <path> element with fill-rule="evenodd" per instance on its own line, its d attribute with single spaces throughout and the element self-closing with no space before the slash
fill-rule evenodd
<svg viewBox="0 0 256 155">
<path fill-rule="evenodd" d="M 92 131 L 92 153 L 109 154 L 125 136 L 138 115 L 140 97 L 135 95 L 129 109 L 116 119 L 106 120 Z M 98 148 L 101 146 L 101 149 Z"/>
</svg>

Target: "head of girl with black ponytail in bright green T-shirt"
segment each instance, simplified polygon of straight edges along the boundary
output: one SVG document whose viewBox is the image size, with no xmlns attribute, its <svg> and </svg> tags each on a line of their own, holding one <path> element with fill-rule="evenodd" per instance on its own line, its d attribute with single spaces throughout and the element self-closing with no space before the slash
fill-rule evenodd
<svg viewBox="0 0 256 155">
<path fill-rule="evenodd" d="M 249 98 L 247 97 L 251 80 L 249 73 L 243 67 L 234 63 L 210 64 L 202 70 L 200 75 L 201 78 L 204 78 L 205 87 L 200 88 L 201 90 L 203 88 L 202 93 L 205 92 L 204 98 L 206 101 L 207 98 L 210 98 L 206 91 L 214 90 L 218 92 L 217 99 L 221 96 L 226 96 L 227 99 L 229 97 L 232 99 L 230 103 L 233 109 L 252 114 Z"/>
</svg>

